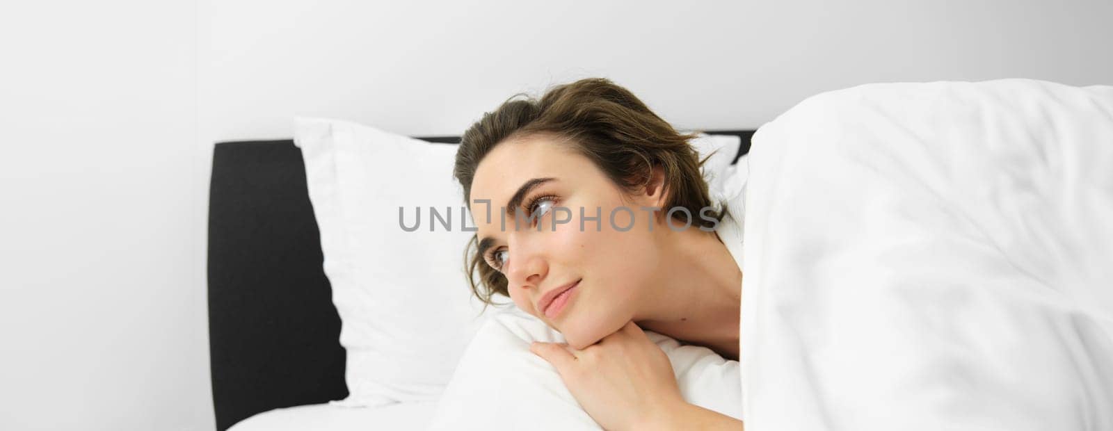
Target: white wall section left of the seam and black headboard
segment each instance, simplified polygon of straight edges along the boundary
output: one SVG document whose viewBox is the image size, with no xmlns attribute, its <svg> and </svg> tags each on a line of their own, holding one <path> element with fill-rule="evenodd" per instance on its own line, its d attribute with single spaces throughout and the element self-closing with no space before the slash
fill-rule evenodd
<svg viewBox="0 0 1113 431">
<path fill-rule="evenodd" d="M 190 1 L 0 7 L 0 430 L 209 430 Z"/>
</svg>

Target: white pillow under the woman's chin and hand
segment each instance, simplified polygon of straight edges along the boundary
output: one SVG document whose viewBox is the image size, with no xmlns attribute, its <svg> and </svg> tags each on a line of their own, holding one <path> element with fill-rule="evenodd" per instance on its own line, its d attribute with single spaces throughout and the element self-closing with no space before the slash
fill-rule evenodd
<svg viewBox="0 0 1113 431">
<path fill-rule="evenodd" d="M 646 334 L 669 355 L 684 400 L 741 419 L 738 361 L 659 333 Z M 530 352 L 533 341 L 564 338 L 518 309 L 494 312 L 464 353 L 430 429 L 599 430 L 556 370 Z"/>
</svg>

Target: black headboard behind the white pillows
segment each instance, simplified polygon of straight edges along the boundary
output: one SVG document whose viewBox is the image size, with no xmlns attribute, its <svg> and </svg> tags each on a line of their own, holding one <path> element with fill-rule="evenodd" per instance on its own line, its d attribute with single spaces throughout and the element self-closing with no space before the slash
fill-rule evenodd
<svg viewBox="0 0 1113 431">
<path fill-rule="evenodd" d="M 736 134 L 747 153 L 754 131 Z M 459 138 L 421 138 L 455 143 Z M 208 220 L 209 363 L 217 429 L 347 397 L 302 151 L 292 140 L 217 143 Z"/>
</svg>

